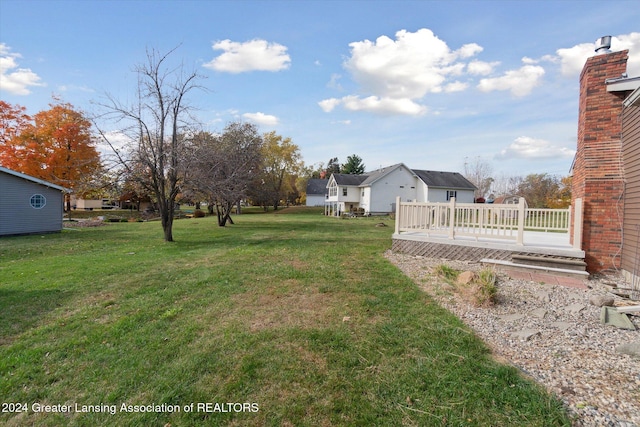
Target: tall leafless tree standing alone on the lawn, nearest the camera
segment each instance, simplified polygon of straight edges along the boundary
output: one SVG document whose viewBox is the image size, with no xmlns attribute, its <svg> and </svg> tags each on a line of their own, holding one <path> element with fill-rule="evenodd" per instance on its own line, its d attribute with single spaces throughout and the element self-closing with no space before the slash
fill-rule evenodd
<svg viewBox="0 0 640 427">
<path fill-rule="evenodd" d="M 173 241 L 176 197 L 187 170 L 184 154 L 189 140 L 185 135 L 194 123 L 185 97 L 200 87 L 201 78 L 195 71 L 185 73 L 183 66 L 169 68 L 168 57 L 174 51 L 147 51 L 147 62 L 136 67 L 138 86 L 133 105 L 111 96 L 102 104 L 106 117 L 124 125 L 120 132 L 132 141 L 130 152 L 118 151 L 106 132 L 101 135 L 114 148 L 128 176 L 154 195 L 167 242 Z"/>
</svg>

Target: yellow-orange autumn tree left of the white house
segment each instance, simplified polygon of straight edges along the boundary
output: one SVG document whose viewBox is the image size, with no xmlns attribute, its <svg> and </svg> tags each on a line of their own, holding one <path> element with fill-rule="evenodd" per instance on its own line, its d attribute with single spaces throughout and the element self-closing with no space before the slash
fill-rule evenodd
<svg viewBox="0 0 640 427">
<path fill-rule="evenodd" d="M 254 203 L 267 204 L 278 209 L 280 202 L 291 188 L 292 177 L 297 177 L 303 166 L 300 149 L 291 141 L 275 131 L 263 135 L 262 167 L 251 190 Z"/>
</svg>

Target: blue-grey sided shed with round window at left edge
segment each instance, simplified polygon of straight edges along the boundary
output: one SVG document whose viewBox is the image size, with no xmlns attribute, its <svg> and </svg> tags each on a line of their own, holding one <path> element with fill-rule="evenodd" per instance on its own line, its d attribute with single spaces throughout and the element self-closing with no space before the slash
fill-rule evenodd
<svg viewBox="0 0 640 427">
<path fill-rule="evenodd" d="M 64 187 L 0 167 L 0 236 L 62 231 Z"/>
</svg>

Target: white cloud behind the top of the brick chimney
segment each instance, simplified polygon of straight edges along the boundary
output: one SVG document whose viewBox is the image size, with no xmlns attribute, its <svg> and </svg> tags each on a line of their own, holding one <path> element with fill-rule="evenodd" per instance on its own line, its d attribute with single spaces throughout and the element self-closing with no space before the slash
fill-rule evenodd
<svg viewBox="0 0 640 427">
<path fill-rule="evenodd" d="M 634 32 L 612 37 L 611 51 L 629 50 L 627 72 L 629 76 L 640 75 L 640 33 Z M 558 49 L 554 61 L 560 62 L 560 71 L 566 77 L 576 77 L 582 72 L 585 61 L 594 56 L 594 43 L 581 43 L 570 48 Z"/>
</svg>

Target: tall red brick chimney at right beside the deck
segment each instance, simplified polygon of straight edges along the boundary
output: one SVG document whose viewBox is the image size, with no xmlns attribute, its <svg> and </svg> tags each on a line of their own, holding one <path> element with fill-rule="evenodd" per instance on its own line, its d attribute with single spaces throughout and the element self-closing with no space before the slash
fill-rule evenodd
<svg viewBox="0 0 640 427">
<path fill-rule="evenodd" d="M 607 79 L 626 72 L 628 50 L 587 60 L 580 74 L 578 148 L 573 164 L 572 206 L 583 199 L 582 249 L 587 270 L 620 267 L 624 176 L 621 161 L 622 101 Z"/>
</svg>

